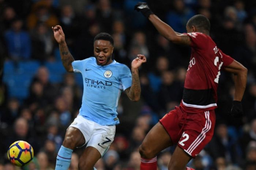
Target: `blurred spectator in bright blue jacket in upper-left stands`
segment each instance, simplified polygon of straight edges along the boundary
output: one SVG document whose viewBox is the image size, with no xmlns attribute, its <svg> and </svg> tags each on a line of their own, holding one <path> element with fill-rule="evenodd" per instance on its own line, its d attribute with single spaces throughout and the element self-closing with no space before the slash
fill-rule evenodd
<svg viewBox="0 0 256 170">
<path fill-rule="evenodd" d="M 22 30 L 22 19 L 16 18 L 11 29 L 5 32 L 8 54 L 12 60 L 28 60 L 31 56 L 31 40 L 27 31 Z"/>
</svg>

